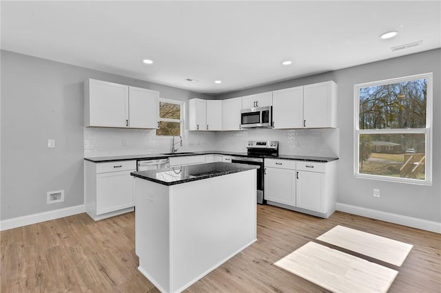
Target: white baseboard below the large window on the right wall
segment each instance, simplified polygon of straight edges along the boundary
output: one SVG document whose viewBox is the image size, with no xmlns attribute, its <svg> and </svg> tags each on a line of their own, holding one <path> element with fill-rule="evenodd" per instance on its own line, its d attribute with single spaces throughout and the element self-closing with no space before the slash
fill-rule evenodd
<svg viewBox="0 0 441 293">
<path fill-rule="evenodd" d="M 427 221 L 425 219 L 418 219 L 403 215 L 397 215 L 393 213 L 386 213 L 386 212 L 382 212 L 381 210 L 371 210 L 370 208 L 351 206 L 349 204 L 337 203 L 336 209 L 340 210 L 340 212 L 350 213 L 353 215 L 369 217 L 372 219 L 379 219 L 382 221 L 389 221 L 394 224 L 400 224 L 403 226 L 418 228 L 430 232 L 441 233 L 441 223 L 438 223 L 436 221 Z"/>
</svg>

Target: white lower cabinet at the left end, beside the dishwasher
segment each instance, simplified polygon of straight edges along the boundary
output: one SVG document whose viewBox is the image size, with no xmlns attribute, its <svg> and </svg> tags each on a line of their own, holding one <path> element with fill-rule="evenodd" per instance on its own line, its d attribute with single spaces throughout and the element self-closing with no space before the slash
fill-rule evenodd
<svg viewBox="0 0 441 293">
<path fill-rule="evenodd" d="M 85 208 L 95 221 L 134 210 L 136 160 L 85 161 Z"/>
</svg>

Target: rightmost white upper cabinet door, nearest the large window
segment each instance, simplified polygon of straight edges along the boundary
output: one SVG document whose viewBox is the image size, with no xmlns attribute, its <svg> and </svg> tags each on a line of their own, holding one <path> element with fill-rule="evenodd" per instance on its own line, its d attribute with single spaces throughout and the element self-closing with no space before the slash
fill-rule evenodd
<svg viewBox="0 0 441 293">
<path fill-rule="evenodd" d="M 333 81 L 305 85 L 303 93 L 303 127 L 337 127 L 336 86 Z"/>
</svg>

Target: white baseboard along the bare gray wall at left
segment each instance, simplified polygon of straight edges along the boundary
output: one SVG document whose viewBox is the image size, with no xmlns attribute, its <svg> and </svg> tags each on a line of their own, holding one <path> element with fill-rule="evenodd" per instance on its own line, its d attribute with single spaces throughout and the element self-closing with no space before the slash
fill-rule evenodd
<svg viewBox="0 0 441 293">
<path fill-rule="evenodd" d="M 12 219 L 6 219 L 0 221 L 0 231 L 9 230 L 12 228 L 18 228 L 31 224 L 37 224 L 42 221 L 49 221 L 52 219 L 59 219 L 62 217 L 68 217 L 76 214 L 85 213 L 85 205 L 70 206 L 69 208 L 60 208 L 58 210 L 49 210 L 48 212 L 27 215 L 23 217 L 16 217 Z"/>
</svg>

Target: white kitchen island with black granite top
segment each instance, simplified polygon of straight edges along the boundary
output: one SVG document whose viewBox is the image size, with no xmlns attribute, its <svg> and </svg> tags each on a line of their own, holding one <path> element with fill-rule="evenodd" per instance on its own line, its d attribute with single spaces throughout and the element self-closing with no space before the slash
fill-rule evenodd
<svg viewBox="0 0 441 293">
<path fill-rule="evenodd" d="M 181 292 L 256 241 L 256 169 L 215 162 L 135 177 L 139 270 Z"/>
</svg>

